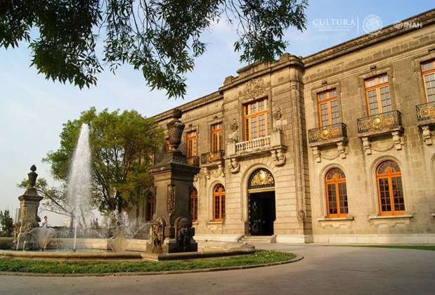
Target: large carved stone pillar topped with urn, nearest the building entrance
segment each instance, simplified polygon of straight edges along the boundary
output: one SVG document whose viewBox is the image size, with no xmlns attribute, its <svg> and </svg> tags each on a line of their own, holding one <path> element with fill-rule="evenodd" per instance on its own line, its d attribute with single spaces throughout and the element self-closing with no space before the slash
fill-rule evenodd
<svg viewBox="0 0 435 295">
<path fill-rule="evenodd" d="M 148 253 L 197 251 L 190 214 L 190 188 L 200 168 L 187 164 L 186 157 L 177 150 L 185 126 L 179 120 L 181 114 L 181 110 L 175 109 L 173 119 L 167 124 L 169 152 L 150 169 L 156 188 L 156 206 Z"/>
</svg>

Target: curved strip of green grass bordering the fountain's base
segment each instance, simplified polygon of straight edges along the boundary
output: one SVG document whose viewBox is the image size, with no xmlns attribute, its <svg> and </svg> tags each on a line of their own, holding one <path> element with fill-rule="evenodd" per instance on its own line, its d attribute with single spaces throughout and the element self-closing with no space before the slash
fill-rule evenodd
<svg viewBox="0 0 435 295">
<path fill-rule="evenodd" d="M 20 273 L 136 273 L 168 270 L 198 270 L 228 266 L 254 265 L 287 261 L 294 254 L 277 251 L 257 251 L 254 254 L 190 261 L 39 261 L 0 258 L 0 271 Z"/>
</svg>

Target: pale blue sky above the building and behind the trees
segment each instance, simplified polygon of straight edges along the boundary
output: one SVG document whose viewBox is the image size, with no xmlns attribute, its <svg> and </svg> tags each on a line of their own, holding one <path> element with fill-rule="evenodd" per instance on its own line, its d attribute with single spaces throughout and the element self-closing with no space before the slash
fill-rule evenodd
<svg viewBox="0 0 435 295">
<path fill-rule="evenodd" d="M 365 34 L 365 20 L 372 20 L 373 15 L 386 26 L 433 8 L 434 2 L 427 0 L 311 0 L 306 10 L 307 29 L 298 32 L 292 28 L 285 34 L 290 41 L 287 52 L 311 55 L 361 36 Z M 17 183 L 27 177 L 32 164 L 37 166 L 39 177 L 53 183 L 50 167 L 41 159 L 48 151 L 58 149 L 59 134 L 67 120 L 76 119 L 90 107 L 137 110 L 151 117 L 216 91 L 225 77 L 235 76 L 235 71 L 245 65 L 233 50 L 236 39 L 224 21 L 204 32 L 207 51 L 197 58 L 193 72 L 187 74 L 185 98 L 176 100 L 167 99 L 164 91 L 150 91 L 141 73 L 130 66 L 120 67 L 115 75 L 103 72 L 97 86 L 80 90 L 37 74 L 30 67 L 27 44 L 8 50 L 0 48 L 0 210 L 9 209 L 15 215 L 18 196 L 23 193 Z M 62 223 L 61 216 L 41 214 L 48 215 L 53 225 Z"/>
</svg>

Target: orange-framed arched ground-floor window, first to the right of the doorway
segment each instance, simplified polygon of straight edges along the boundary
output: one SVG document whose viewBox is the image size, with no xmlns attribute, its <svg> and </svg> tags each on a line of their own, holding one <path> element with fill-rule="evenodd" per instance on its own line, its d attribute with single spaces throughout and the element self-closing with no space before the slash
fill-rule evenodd
<svg viewBox="0 0 435 295">
<path fill-rule="evenodd" d="M 328 217 L 343 217 L 349 213 L 347 206 L 346 176 L 342 169 L 332 168 L 325 177 Z"/>
</svg>

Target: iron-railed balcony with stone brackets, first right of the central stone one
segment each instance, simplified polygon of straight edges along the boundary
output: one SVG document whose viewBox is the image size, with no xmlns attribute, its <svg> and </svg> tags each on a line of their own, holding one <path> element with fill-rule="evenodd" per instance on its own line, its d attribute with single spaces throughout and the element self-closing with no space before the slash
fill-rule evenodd
<svg viewBox="0 0 435 295">
<path fill-rule="evenodd" d="M 314 159 L 316 162 L 321 162 L 321 147 L 327 147 L 331 145 L 337 145 L 337 153 L 332 157 L 341 156 L 342 159 L 346 158 L 347 150 L 347 129 L 346 124 L 337 123 L 320 128 L 310 129 L 308 131 L 309 147 L 313 150 Z"/>
</svg>

